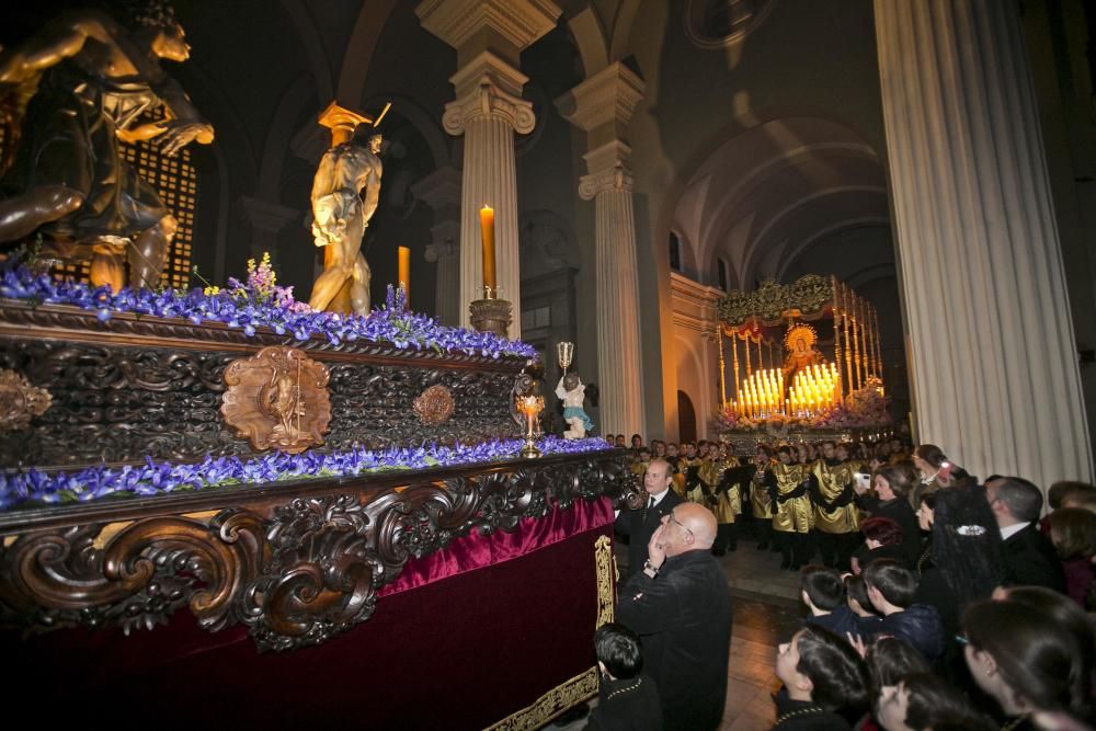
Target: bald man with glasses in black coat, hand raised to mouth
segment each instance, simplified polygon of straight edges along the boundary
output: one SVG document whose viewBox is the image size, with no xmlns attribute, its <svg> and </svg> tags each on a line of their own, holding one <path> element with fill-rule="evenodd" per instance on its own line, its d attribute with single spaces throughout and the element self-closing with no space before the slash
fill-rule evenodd
<svg viewBox="0 0 1096 731">
<path fill-rule="evenodd" d="M 643 570 L 619 592 L 617 620 L 643 642 L 666 731 L 718 729 L 723 716 L 731 595 L 711 555 L 716 530 L 707 507 L 674 506 L 647 545 Z"/>
</svg>

